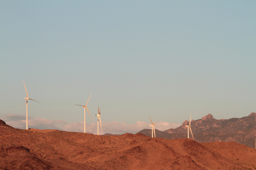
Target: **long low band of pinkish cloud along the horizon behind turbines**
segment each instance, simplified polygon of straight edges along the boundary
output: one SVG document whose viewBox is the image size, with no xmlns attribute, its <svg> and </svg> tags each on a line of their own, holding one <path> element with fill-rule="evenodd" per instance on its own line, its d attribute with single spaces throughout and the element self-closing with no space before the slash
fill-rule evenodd
<svg viewBox="0 0 256 170">
<path fill-rule="evenodd" d="M 0 117 L 0 119 L 4 120 L 6 124 L 13 126 L 14 128 L 26 129 L 26 117 L 21 115 L 14 115 L 14 114 L 6 114 Z M 123 133 L 137 133 L 143 129 L 150 129 L 151 123 L 137 121 L 134 124 L 127 124 L 125 122 L 104 122 L 102 121 L 102 132 L 99 124 L 99 134 L 103 135 L 105 133 L 112 133 L 112 134 L 123 134 Z M 58 129 L 64 130 L 69 132 L 83 132 L 84 131 L 84 123 L 83 121 L 80 122 L 73 122 L 67 123 L 62 120 L 48 120 L 44 118 L 36 118 L 30 117 L 28 120 L 29 128 L 36 128 L 36 129 Z M 176 128 L 180 126 L 180 124 L 174 124 L 169 122 L 157 122 L 156 129 L 163 131 L 170 128 Z M 86 123 L 86 133 L 93 133 L 97 134 L 97 122 Z"/>
</svg>

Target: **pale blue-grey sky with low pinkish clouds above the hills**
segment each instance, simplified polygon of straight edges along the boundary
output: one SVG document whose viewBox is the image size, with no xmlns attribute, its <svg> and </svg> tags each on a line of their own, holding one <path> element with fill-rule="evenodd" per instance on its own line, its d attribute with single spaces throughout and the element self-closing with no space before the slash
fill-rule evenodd
<svg viewBox="0 0 256 170">
<path fill-rule="evenodd" d="M 256 112 L 256 1 L 0 1 L 0 119 L 96 134 Z M 157 127 L 158 126 L 158 127 Z"/>
</svg>

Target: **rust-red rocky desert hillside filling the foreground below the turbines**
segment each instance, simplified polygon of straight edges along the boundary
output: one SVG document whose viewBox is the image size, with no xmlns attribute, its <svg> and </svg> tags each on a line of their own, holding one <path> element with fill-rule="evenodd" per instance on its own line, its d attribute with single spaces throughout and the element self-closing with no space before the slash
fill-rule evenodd
<svg viewBox="0 0 256 170">
<path fill-rule="evenodd" d="M 235 142 L 198 143 L 141 133 L 93 135 L 0 126 L 4 170 L 256 169 L 256 150 Z"/>
</svg>

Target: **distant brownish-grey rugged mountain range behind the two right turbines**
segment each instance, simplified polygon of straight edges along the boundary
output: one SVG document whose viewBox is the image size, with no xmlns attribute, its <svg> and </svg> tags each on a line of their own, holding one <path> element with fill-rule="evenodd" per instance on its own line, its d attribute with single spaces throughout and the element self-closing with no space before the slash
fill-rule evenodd
<svg viewBox="0 0 256 170">
<path fill-rule="evenodd" d="M 187 137 L 187 127 L 189 121 L 184 121 L 178 128 L 171 128 L 165 131 L 156 130 L 156 137 L 164 139 L 178 139 Z M 157 128 L 157 124 L 156 124 Z M 231 119 L 214 119 L 208 114 L 202 119 L 191 121 L 191 129 L 195 141 L 200 143 L 224 141 L 234 141 L 255 148 L 256 138 L 256 113 L 250 113 L 249 116 Z M 138 133 L 152 136 L 151 129 L 143 129 Z M 189 132 L 189 138 L 192 135 Z"/>
</svg>

